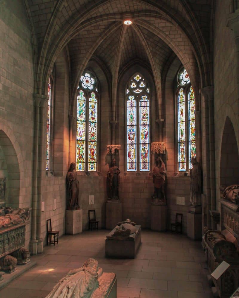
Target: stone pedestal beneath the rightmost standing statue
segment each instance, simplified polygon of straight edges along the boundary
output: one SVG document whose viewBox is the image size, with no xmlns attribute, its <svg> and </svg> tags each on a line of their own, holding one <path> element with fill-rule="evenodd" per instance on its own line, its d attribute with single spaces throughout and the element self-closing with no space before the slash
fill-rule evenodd
<svg viewBox="0 0 239 298">
<path fill-rule="evenodd" d="M 189 206 L 187 215 L 187 234 L 193 240 L 202 239 L 202 214 L 201 206 Z"/>
</svg>

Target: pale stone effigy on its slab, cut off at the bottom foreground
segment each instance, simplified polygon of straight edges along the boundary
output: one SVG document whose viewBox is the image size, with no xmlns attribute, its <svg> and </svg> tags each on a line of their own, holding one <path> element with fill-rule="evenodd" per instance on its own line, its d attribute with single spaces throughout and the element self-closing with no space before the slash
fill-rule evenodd
<svg viewBox="0 0 239 298">
<path fill-rule="evenodd" d="M 102 271 L 95 259 L 88 259 L 63 277 L 46 298 L 116 298 L 116 275 Z"/>
</svg>

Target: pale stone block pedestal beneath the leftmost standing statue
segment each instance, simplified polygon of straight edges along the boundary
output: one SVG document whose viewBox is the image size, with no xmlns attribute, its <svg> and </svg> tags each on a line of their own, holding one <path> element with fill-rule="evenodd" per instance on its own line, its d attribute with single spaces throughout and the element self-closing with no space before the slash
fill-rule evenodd
<svg viewBox="0 0 239 298">
<path fill-rule="evenodd" d="M 65 212 L 65 233 L 78 234 L 82 232 L 82 209 L 66 210 Z"/>
</svg>

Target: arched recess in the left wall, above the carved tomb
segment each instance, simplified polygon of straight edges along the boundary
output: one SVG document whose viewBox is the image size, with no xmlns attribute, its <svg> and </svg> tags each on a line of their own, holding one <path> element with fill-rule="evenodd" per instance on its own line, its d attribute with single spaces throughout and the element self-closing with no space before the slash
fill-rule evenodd
<svg viewBox="0 0 239 298">
<path fill-rule="evenodd" d="M 0 147 L 0 178 L 6 178 L 6 205 L 17 208 L 20 196 L 19 162 L 13 143 L 3 130 L 0 130 Z"/>
</svg>

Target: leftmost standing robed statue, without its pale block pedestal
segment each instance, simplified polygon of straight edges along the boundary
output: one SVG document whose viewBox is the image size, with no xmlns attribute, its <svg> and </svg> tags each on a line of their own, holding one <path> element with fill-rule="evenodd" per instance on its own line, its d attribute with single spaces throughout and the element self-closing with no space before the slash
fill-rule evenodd
<svg viewBox="0 0 239 298">
<path fill-rule="evenodd" d="M 79 181 L 77 179 L 77 173 L 75 171 L 75 168 L 76 168 L 76 164 L 72 162 L 66 176 L 68 193 L 69 193 L 69 201 L 67 204 L 68 210 L 80 209 L 80 206 L 78 203 Z"/>
</svg>

